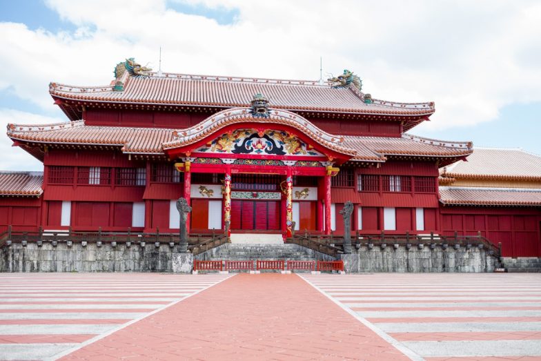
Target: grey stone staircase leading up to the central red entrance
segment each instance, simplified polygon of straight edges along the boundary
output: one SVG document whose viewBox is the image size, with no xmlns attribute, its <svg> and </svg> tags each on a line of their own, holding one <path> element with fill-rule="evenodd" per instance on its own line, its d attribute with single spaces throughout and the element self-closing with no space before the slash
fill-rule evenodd
<svg viewBox="0 0 541 361">
<path fill-rule="evenodd" d="M 195 256 L 202 261 L 296 260 L 334 261 L 335 257 L 298 244 L 232 244 L 226 243 Z"/>
</svg>

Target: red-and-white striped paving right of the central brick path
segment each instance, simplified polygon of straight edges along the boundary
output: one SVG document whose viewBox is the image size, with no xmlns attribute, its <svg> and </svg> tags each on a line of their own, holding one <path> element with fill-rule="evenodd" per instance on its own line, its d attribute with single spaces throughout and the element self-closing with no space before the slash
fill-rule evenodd
<svg viewBox="0 0 541 361">
<path fill-rule="evenodd" d="M 541 275 L 302 277 L 422 358 L 533 356 L 541 360 Z M 483 340 L 475 339 L 480 336 Z"/>
</svg>

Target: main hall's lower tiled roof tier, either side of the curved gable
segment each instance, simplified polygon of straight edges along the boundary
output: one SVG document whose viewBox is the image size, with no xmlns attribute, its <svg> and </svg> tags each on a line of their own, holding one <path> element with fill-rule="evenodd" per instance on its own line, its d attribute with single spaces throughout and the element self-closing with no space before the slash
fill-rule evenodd
<svg viewBox="0 0 541 361">
<path fill-rule="evenodd" d="M 86 126 L 72 121 L 40 126 L 10 124 L 8 135 L 14 140 L 44 144 L 90 144 L 121 146 L 124 153 L 164 154 L 163 145 L 178 142 L 175 135 L 184 130 L 168 128 L 133 128 L 118 126 Z M 471 153 L 466 143 L 446 143 L 403 135 L 402 137 L 343 137 L 342 148 L 355 150 L 353 159 L 384 162 L 386 155 L 418 155 L 421 157 L 460 157 Z M 177 146 L 181 144 L 176 144 Z"/>
</svg>

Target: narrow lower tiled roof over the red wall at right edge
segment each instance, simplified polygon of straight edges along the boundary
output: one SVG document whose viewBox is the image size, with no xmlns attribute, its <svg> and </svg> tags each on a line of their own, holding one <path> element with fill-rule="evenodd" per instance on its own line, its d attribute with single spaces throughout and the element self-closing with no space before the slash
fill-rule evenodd
<svg viewBox="0 0 541 361">
<path fill-rule="evenodd" d="M 541 206 L 541 189 L 440 187 L 443 204 Z"/>
</svg>

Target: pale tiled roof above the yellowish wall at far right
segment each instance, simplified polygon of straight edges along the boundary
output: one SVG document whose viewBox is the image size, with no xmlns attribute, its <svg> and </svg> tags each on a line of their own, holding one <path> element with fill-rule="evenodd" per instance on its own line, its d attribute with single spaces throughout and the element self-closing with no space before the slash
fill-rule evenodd
<svg viewBox="0 0 541 361">
<path fill-rule="evenodd" d="M 541 156 L 520 149 L 475 148 L 467 159 L 440 168 L 445 177 L 541 181 Z"/>
</svg>

